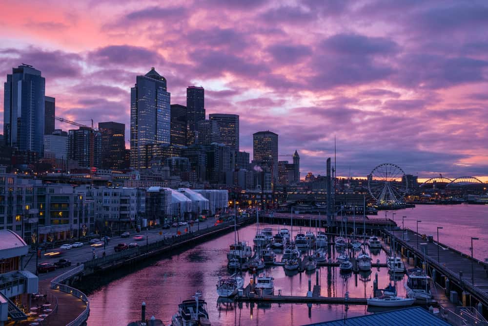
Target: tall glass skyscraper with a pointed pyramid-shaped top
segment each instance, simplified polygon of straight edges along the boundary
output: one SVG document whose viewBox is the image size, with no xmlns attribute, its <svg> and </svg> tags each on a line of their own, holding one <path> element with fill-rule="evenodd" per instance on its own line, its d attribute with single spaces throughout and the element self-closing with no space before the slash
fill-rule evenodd
<svg viewBox="0 0 488 326">
<path fill-rule="evenodd" d="M 169 145 L 171 130 L 170 93 L 166 79 L 156 70 L 137 76 L 130 89 L 130 166 L 147 168 L 144 157 L 148 144 Z"/>
</svg>

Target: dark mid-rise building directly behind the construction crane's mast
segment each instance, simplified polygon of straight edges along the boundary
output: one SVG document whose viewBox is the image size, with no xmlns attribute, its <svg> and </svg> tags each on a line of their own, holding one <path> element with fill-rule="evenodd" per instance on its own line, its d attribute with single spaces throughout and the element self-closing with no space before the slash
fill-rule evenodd
<svg viewBox="0 0 488 326">
<path fill-rule="evenodd" d="M 102 134 L 88 127 L 68 131 L 68 157 L 83 168 L 102 166 Z M 93 163 L 93 164 L 92 164 Z"/>
</svg>

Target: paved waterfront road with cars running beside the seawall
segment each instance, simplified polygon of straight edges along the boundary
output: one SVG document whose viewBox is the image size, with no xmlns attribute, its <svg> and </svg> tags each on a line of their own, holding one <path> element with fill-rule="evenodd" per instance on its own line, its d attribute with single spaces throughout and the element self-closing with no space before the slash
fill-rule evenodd
<svg viewBox="0 0 488 326">
<path fill-rule="evenodd" d="M 193 231 L 196 231 L 199 229 L 201 230 L 201 229 L 206 229 L 206 228 L 212 227 L 212 226 L 214 226 L 214 223 L 215 223 L 215 218 L 210 217 L 203 222 L 193 223 L 193 226 L 191 226 L 191 227 L 190 226 L 180 226 L 178 228 L 178 230 L 181 231 L 182 233 L 184 233 L 184 229 L 187 227 L 189 230 L 191 229 Z M 162 232 L 163 234 L 160 235 L 159 234 L 160 232 Z M 176 236 L 176 233 L 177 233 L 176 227 L 172 227 L 170 229 L 164 229 L 164 230 L 161 228 L 152 229 L 152 230 L 148 230 L 147 233 L 146 233 L 146 231 L 142 231 L 141 233 L 134 233 L 133 231 L 131 231 L 129 238 L 121 238 L 120 236 L 110 237 L 110 241 L 108 244 L 105 245 L 105 249 L 103 248 L 103 245 L 100 247 L 96 247 L 95 253 L 98 255 L 98 257 L 102 257 L 103 251 L 105 251 L 106 255 L 111 255 L 111 254 L 115 253 L 114 247 L 117 244 L 122 243 L 122 242 L 125 242 L 125 243 L 136 242 L 136 243 L 139 243 L 140 245 L 145 245 L 146 244 L 146 234 L 147 234 L 147 242 L 153 243 L 156 241 L 161 241 L 165 238 L 171 238 L 172 236 Z M 133 239 L 133 237 L 136 235 L 143 236 L 143 239 L 141 241 L 135 241 Z M 73 242 L 75 242 L 75 241 L 73 241 Z M 55 247 L 55 249 L 58 249 L 58 248 Z M 72 248 L 70 250 L 64 250 L 63 254 L 59 257 L 56 257 L 56 258 L 45 258 L 44 257 L 45 252 L 42 251 L 41 258 L 39 259 L 38 263 L 55 262 L 55 261 L 58 261 L 60 258 L 65 258 L 67 260 L 70 260 L 72 265 L 76 265 L 78 262 L 82 263 L 82 262 L 93 259 L 93 248 L 94 247 L 92 247 L 89 243 L 84 242 L 82 247 Z M 48 249 L 47 251 L 48 252 L 52 251 L 52 249 Z M 27 262 L 27 260 L 29 260 L 29 258 L 30 258 L 30 261 L 27 263 L 27 266 L 25 267 L 25 269 L 32 272 L 32 273 L 35 273 L 36 272 L 36 256 L 35 256 L 35 254 L 29 253 L 26 257 L 24 257 L 23 263 L 25 264 Z M 53 272 L 40 273 L 39 279 L 40 280 L 53 279 L 57 275 L 60 275 L 65 270 L 68 270 L 70 268 L 71 267 L 65 267 L 65 268 L 61 268 L 61 269 L 58 269 L 58 270 L 53 271 Z"/>
</svg>

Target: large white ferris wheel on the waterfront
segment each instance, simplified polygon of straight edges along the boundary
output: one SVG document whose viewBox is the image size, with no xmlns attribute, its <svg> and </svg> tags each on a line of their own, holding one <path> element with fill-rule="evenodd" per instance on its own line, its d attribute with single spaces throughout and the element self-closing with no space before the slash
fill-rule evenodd
<svg viewBox="0 0 488 326">
<path fill-rule="evenodd" d="M 407 193 L 408 181 L 398 165 L 383 163 L 367 176 L 367 187 L 377 204 L 398 204 Z"/>
</svg>

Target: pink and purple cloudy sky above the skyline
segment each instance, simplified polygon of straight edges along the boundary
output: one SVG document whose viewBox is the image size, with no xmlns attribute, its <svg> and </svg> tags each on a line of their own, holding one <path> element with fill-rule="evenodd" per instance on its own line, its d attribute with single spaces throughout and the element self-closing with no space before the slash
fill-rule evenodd
<svg viewBox="0 0 488 326">
<path fill-rule="evenodd" d="M 254 132 L 278 133 L 302 177 L 334 136 L 338 175 L 488 175 L 486 1 L 3 0 L 0 25 L 3 81 L 34 65 L 56 115 L 125 123 L 127 148 L 130 87 L 155 67 L 172 104 L 196 85 L 207 114 L 239 114 L 251 159 Z"/>
</svg>

